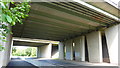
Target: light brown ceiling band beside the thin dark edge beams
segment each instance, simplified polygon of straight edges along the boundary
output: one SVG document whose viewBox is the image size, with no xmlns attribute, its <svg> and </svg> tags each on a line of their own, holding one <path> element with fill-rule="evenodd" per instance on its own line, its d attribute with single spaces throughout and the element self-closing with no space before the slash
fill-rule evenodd
<svg viewBox="0 0 120 68">
<path fill-rule="evenodd" d="M 89 24 L 90 26 L 97 26 L 97 25 L 99 25 L 98 23 L 90 21 L 90 20 L 87 20 L 85 18 L 77 17 L 75 15 L 68 14 L 66 12 L 61 12 L 61 11 L 58 11 L 58 10 L 55 10 L 55 9 L 52 9 L 52 8 L 49 8 L 49 7 L 40 5 L 40 4 L 39 5 L 38 4 L 32 4 L 31 9 L 32 10 L 36 10 L 36 11 L 45 12 L 45 13 L 48 13 L 48 14 L 51 14 L 51 15 L 55 15 L 55 16 L 58 16 L 58 17 L 62 17 L 62 18 L 65 18 L 65 19 L 70 19 L 70 20 L 73 20 L 73 21 L 76 21 L 76 22 L 81 22 L 82 24 Z M 74 25 L 74 26 L 77 26 L 77 25 Z M 79 28 L 86 28 L 86 27 L 79 26 Z"/>
</svg>

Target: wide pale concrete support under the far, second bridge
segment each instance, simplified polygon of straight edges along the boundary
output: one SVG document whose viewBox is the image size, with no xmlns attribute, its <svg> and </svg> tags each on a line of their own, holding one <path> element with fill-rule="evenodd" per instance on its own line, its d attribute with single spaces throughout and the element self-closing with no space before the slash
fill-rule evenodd
<svg viewBox="0 0 120 68">
<path fill-rule="evenodd" d="M 37 57 L 38 58 L 51 58 L 52 44 L 38 47 Z"/>
</svg>

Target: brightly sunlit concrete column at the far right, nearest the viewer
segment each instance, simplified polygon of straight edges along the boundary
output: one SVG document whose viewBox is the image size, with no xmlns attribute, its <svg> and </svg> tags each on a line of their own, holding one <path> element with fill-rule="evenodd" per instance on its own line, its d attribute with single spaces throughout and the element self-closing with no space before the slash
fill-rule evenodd
<svg viewBox="0 0 120 68">
<path fill-rule="evenodd" d="M 120 25 L 105 30 L 110 63 L 118 64 L 118 29 Z"/>
</svg>

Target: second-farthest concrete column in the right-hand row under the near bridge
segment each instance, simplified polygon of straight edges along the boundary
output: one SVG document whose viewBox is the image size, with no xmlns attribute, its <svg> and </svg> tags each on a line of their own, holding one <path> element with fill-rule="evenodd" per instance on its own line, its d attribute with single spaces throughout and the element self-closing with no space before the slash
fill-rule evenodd
<svg viewBox="0 0 120 68">
<path fill-rule="evenodd" d="M 66 60 L 73 60 L 73 42 L 72 40 L 65 41 L 66 46 Z"/>
</svg>

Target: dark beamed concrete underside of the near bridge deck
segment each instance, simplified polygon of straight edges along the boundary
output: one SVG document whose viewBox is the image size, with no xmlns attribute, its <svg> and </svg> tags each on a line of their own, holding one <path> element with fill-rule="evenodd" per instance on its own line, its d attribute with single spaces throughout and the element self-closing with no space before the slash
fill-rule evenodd
<svg viewBox="0 0 120 68">
<path fill-rule="evenodd" d="M 117 9 L 108 6 L 109 8 L 104 9 L 118 13 Z M 24 24 L 13 27 L 13 37 L 61 41 L 104 29 L 118 22 L 108 15 L 76 2 L 33 2 Z"/>
</svg>

